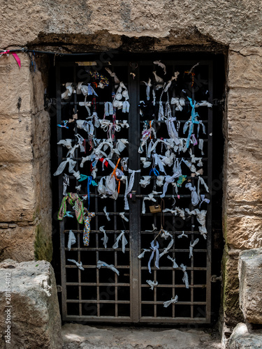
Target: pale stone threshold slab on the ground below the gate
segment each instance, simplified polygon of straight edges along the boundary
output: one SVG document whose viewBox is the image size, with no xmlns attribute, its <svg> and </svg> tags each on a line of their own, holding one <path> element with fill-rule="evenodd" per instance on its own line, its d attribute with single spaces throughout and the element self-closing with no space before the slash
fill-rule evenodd
<svg viewBox="0 0 262 349">
<path fill-rule="evenodd" d="M 63 349 L 221 349 L 219 339 L 198 329 L 93 327 L 66 324 Z"/>
</svg>

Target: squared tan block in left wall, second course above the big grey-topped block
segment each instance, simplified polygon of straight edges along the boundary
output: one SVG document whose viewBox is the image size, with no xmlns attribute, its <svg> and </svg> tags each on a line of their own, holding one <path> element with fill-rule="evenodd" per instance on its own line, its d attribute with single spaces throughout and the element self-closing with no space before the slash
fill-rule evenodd
<svg viewBox="0 0 262 349">
<path fill-rule="evenodd" d="M 0 222 L 34 221 L 36 198 L 32 163 L 1 165 Z"/>
</svg>

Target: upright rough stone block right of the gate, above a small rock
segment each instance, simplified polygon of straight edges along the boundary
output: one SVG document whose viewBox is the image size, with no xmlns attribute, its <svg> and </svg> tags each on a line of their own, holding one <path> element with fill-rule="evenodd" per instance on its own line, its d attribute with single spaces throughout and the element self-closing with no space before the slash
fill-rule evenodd
<svg viewBox="0 0 262 349">
<path fill-rule="evenodd" d="M 245 319 L 262 324 L 262 248 L 240 253 L 238 277 L 240 309 Z"/>
</svg>

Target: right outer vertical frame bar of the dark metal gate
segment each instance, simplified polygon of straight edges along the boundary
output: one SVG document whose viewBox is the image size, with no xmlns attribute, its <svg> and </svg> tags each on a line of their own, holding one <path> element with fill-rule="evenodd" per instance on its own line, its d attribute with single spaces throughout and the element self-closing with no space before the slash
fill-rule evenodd
<svg viewBox="0 0 262 349">
<path fill-rule="evenodd" d="M 208 88 L 210 93 L 210 101 L 213 99 L 213 63 L 208 64 Z M 208 108 L 208 188 L 212 193 L 212 108 Z M 211 198 L 210 198 L 211 199 Z M 208 205 L 208 221 L 207 221 L 208 235 L 207 235 L 207 306 L 206 318 L 211 320 L 211 239 L 212 239 L 212 200 Z"/>
</svg>

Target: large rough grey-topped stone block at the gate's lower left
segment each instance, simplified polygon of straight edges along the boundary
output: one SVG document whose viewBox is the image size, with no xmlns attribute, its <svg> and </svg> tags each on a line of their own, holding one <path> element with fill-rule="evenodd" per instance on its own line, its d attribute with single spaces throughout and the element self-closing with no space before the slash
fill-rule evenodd
<svg viewBox="0 0 262 349">
<path fill-rule="evenodd" d="M 4 260 L 0 263 L 0 279 L 0 348 L 61 349 L 61 318 L 50 263 Z M 9 280 L 10 297 L 6 297 Z M 6 323 L 9 320 L 10 327 Z M 5 343 L 9 337 L 4 336 L 8 329 L 10 344 Z"/>
</svg>

